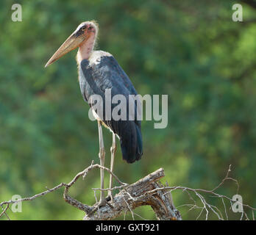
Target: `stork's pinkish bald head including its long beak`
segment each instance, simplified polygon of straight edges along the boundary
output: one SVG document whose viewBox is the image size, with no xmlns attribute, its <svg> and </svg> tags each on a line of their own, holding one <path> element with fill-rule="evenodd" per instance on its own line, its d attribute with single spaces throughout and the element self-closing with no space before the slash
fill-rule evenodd
<svg viewBox="0 0 256 235">
<path fill-rule="evenodd" d="M 57 49 L 51 59 L 49 59 L 49 61 L 46 63 L 45 67 L 51 65 L 54 61 L 60 59 L 60 57 L 63 57 L 63 55 L 67 54 L 69 51 L 72 51 L 75 48 L 84 45 L 91 38 L 93 38 L 92 43 L 94 43 L 97 33 L 98 25 L 95 21 L 82 22 L 81 24 L 79 24 L 77 29 L 68 37 L 68 39 L 65 40 L 63 45 L 61 45 L 60 48 Z"/>
</svg>

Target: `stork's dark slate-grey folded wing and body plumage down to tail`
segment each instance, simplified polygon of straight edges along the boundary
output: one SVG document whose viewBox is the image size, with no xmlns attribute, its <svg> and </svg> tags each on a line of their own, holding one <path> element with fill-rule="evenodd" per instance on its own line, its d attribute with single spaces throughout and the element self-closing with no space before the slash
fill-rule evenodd
<svg viewBox="0 0 256 235">
<path fill-rule="evenodd" d="M 102 121 L 120 138 L 123 158 L 127 162 L 141 159 L 142 137 L 141 120 L 137 120 L 137 104 L 135 102 L 135 120 L 129 120 L 129 95 L 137 95 L 132 82 L 113 56 L 100 57 L 99 61 L 90 65 L 83 59 L 79 68 L 80 88 L 85 101 L 90 95 L 101 95 L 103 100 Z M 105 90 L 111 89 L 111 96 L 124 95 L 127 101 L 127 120 L 105 120 Z M 92 104 L 89 103 L 90 106 Z M 118 104 L 111 104 L 111 110 Z"/>
</svg>

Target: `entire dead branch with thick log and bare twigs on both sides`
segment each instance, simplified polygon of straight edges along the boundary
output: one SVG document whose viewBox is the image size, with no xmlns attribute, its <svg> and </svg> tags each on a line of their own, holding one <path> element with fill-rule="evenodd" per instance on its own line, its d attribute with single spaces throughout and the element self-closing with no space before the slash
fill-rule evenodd
<svg viewBox="0 0 256 235">
<path fill-rule="evenodd" d="M 231 165 L 230 165 L 231 167 Z M 217 189 L 219 189 L 225 181 L 234 181 L 235 184 L 237 184 L 237 193 L 239 190 L 239 184 L 238 181 L 230 177 L 230 167 L 227 170 L 226 176 L 223 178 L 223 180 L 218 184 L 217 187 L 207 190 L 207 189 L 192 189 L 190 187 L 169 187 L 168 184 L 163 185 L 160 183 L 160 178 L 163 178 L 164 170 L 163 168 L 160 168 L 159 170 L 154 171 L 153 173 L 149 174 L 148 176 L 141 178 L 139 181 L 135 182 L 134 184 L 125 184 L 124 182 L 120 181 L 115 174 L 111 173 L 110 169 L 107 167 L 102 167 L 99 164 L 90 164 L 89 167 L 87 167 L 82 172 L 78 173 L 74 178 L 68 183 L 61 183 L 58 184 L 56 187 L 53 187 L 51 189 L 46 187 L 46 191 L 40 192 L 37 195 L 33 195 L 29 198 L 21 198 L 18 200 L 7 200 L 0 203 L 1 206 L 1 213 L 0 217 L 6 216 L 8 220 L 10 220 L 10 217 L 7 215 L 7 210 L 10 209 L 10 205 L 13 203 L 19 203 L 26 200 L 35 200 L 36 198 L 42 197 L 43 195 L 46 195 L 50 192 L 54 192 L 57 189 L 64 187 L 63 192 L 63 198 L 64 200 L 71 204 L 71 206 L 75 206 L 77 209 L 85 211 L 85 217 L 84 220 L 113 220 L 116 217 L 119 217 L 121 214 L 124 214 L 124 216 L 127 214 L 127 212 L 130 212 L 132 214 L 132 218 L 134 219 L 134 214 L 136 214 L 133 210 L 139 206 L 151 206 L 157 220 L 182 220 L 181 215 L 179 214 L 179 211 L 175 208 L 171 192 L 181 189 L 182 192 L 186 192 L 191 200 L 193 200 L 192 204 L 184 204 L 182 206 L 188 206 L 189 210 L 192 209 L 200 209 L 199 215 L 196 219 L 199 219 L 202 216 L 202 213 L 205 211 L 205 220 L 208 219 L 210 212 L 216 214 L 216 217 L 218 217 L 218 220 L 224 220 L 224 216 L 221 213 L 221 210 L 218 209 L 216 206 L 211 205 L 207 202 L 205 195 L 210 195 L 216 198 L 220 198 L 221 202 L 224 206 L 224 215 L 226 217 L 226 220 L 228 220 L 227 215 L 227 207 L 224 202 L 224 200 L 228 201 L 230 205 L 232 206 L 232 203 L 238 203 L 238 201 L 232 200 L 232 198 L 227 197 L 226 195 L 221 195 L 216 192 Z M 70 195 L 68 195 L 68 190 L 74 186 L 74 184 L 77 182 L 77 180 L 82 176 L 82 178 L 85 178 L 88 176 L 88 173 L 93 169 L 103 169 L 106 170 L 108 173 L 112 174 L 113 178 L 118 182 L 119 186 L 113 187 L 110 190 L 118 189 L 119 193 L 116 194 L 113 198 L 113 201 L 111 203 L 106 203 L 104 206 L 98 206 L 97 198 L 96 198 L 96 191 L 97 190 L 108 190 L 108 189 L 100 189 L 100 188 L 93 188 L 94 195 L 96 198 L 96 203 L 93 206 L 86 205 L 82 202 L 80 202 L 77 199 L 71 198 Z M 198 205 L 199 203 L 196 202 L 196 198 L 201 202 L 201 205 Z M 252 210 L 252 219 L 254 220 L 254 211 L 256 210 L 252 206 L 246 205 L 241 203 L 241 205 L 244 208 L 251 209 Z M 4 207 L 5 206 L 5 207 Z M 178 206 L 181 207 L 181 206 Z M 178 208 L 177 207 L 177 208 Z M 138 214 L 136 214 L 138 215 Z M 138 215 L 141 217 L 140 215 Z M 247 216 L 246 212 L 243 211 L 241 214 L 241 220 L 245 217 L 246 220 L 249 220 L 249 217 Z M 143 219 L 141 217 L 141 219 Z"/>
</svg>

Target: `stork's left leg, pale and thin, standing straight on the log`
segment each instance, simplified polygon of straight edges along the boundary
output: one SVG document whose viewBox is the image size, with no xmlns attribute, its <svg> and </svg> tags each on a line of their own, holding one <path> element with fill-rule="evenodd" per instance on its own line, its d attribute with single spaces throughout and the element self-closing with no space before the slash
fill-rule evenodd
<svg viewBox="0 0 256 235">
<path fill-rule="evenodd" d="M 104 150 L 104 141 L 102 134 L 102 123 L 98 120 L 98 128 L 99 128 L 99 162 L 102 167 L 104 167 L 105 162 L 105 150 Z M 101 189 L 104 189 L 104 170 L 100 169 L 101 174 Z M 104 191 L 101 190 L 99 204 L 104 203 Z"/>
</svg>

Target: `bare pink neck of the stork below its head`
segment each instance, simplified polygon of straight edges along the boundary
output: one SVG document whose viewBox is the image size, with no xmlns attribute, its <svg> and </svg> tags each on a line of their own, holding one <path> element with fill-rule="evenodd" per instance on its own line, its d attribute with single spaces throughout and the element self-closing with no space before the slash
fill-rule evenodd
<svg viewBox="0 0 256 235">
<path fill-rule="evenodd" d="M 90 54 L 92 54 L 93 52 L 94 43 L 95 43 L 95 34 L 90 35 L 88 40 L 86 40 L 84 43 L 81 43 L 77 51 L 78 65 L 80 64 L 82 59 L 89 59 Z"/>
</svg>

